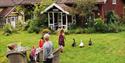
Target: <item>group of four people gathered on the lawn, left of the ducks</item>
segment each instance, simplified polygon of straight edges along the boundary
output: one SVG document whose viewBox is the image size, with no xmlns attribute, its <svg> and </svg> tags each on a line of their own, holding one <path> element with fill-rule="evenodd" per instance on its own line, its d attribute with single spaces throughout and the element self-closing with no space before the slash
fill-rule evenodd
<svg viewBox="0 0 125 63">
<path fill-rule="evenodd" d="M 36 49 L 34 46 L 32 47 L 31 53 L 30 53 L 31 62 L 32 61 L 37 62 L 38 54 L 41 50 L 43 50 L 43 63 L 52 63 L 52 59 L 54 57 L 53 43 L 49 38 L 50 38 L 49 33 L 43 34 L 42 38 L 39 41 L 39 48 Z M 65 46 L 64 39 L 65 39 L 64 30 L 61 29 L 59 31 L 59 37 L 58 37 L 58 44 L 59 44 L 59 47 L 61 48 L 61 52 L 63 52 L 64 46 Z"/>
</svg>

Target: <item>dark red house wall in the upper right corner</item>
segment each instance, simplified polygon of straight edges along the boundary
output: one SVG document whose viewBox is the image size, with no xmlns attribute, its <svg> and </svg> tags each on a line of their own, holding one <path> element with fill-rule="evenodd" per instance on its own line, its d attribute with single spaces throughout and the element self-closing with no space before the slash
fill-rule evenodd
<svg viewBox="0 0 125 63">
<path fill-rule="evenodd" d="M 118 16 L 124 15 L 124 3 L 123 0 L 98 0 L 99 15 L 105 18 L 105 15 L 109 11 L 114 11 Z"/>
</svg>

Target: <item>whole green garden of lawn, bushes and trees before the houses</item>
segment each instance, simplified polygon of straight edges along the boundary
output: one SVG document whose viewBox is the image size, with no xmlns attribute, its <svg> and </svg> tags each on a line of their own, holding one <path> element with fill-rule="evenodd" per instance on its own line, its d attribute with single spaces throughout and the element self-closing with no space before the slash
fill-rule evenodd
<svg viewBox="0 0 125 63">
<path fill-rule="evenodd" d="M 78 7 L 76 6 L 76 10 L 80 9 L 80 14 L 76 17 L 82 19 L 77 18 L 79 21 L 65 30 L 65 47 L 64 52 L 60 54 L 60 63 L 125 63 L 125 17 L 119 17 L 113 10 L 106 13 L 105 19 L 95 17 L 92 13 L 95 2 L 86 2 L 78 2 Z M 34 11 L 31 11 L 33 18 L 25 23 L 18 21 L 16 28 L 10 23 L 0 28 L 0 63 L 8 63 L 8 44 L 26 46 L 29 48 L 29 54 L 33 46 L 39 46 L 42 33 L 50 33 L 54 49 L 59 47 L 58 31 L 48 27 L 46 15 L 41 16 L 41 11 L 45 9 L 43 5 L 35 5 Z M 20 7 L 18 9 L 20 10 Z M 74 39 L 76 47 L 72 47 Z M 90 39 L 92 46 L 89 46 Z M 83 48 L 79 47 L 81 41 L 84 43 Z M 29 60 L 29 55 L 27 57 Z"/>
</svg>

